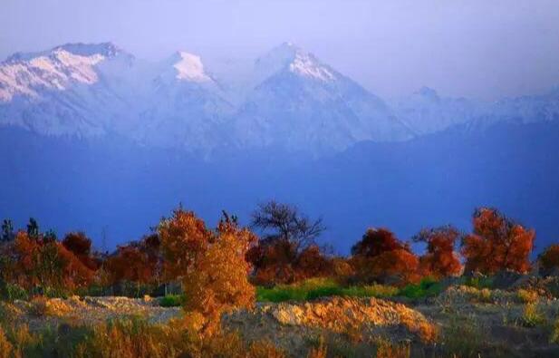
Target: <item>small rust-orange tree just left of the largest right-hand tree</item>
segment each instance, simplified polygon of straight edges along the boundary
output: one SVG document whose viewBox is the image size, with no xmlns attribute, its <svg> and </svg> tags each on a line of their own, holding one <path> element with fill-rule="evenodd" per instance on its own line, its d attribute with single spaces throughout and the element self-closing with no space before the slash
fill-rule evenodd
<svg viewBox="0 0 559 358">
<path fill-rule="evenodd" d="M 419 257 L 422 276 L 442 278 L 460 273 L 462 264 L 454 250 L 459 236 L 456 227 L 446 226 L 425 228 L 413 237 L 414 241 L 427 244 L 427 253 Z"/>
</svg>

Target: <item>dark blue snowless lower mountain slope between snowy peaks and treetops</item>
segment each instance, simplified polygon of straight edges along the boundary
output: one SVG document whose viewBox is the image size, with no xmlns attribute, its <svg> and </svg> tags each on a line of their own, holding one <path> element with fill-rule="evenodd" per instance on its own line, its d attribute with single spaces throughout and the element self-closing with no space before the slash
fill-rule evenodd
<svg viewBox="0 0 559 358">
<path fill-rule="evenodd" d="M 476 206 L 495 206 L 559 238 L 559 122 L 454 128 L 405 142 L 361 142 L 313 160 L 269 148 L 223 150 L 204 161 L 120 137 L 51 138 L 0 129 L 0 218 L 30 216 L 59 234 L 84 229 L 101 246 L 138 238 L 182 202 L 209 225 L 221 209 L 246 222 L 276 198 L 323 215 L 325 241 L 347 252 L 366 227 L 402 238 L 423 226 L 470 228 Z"/>
</svg>

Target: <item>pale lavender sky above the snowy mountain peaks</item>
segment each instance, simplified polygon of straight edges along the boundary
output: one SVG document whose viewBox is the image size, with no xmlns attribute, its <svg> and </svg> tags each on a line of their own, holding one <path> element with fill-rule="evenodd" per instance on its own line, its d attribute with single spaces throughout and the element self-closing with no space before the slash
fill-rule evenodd
<svg viewBox="0 0 559 358">
<path fill-rule="evenodd" d="M 390 99 L 496 100 L 559 84 L 557 0 L 0 0 L 0 58 L 111 41 L 158 60 L 255 58 L 285 41 Z"/>
</svg>

